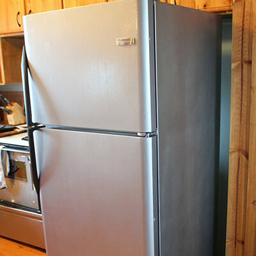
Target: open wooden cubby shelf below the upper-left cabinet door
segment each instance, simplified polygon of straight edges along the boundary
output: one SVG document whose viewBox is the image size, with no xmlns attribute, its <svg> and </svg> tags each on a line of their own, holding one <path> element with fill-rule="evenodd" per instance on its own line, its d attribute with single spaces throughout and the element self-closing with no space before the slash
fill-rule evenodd
<svg viewBox="0 0 256 256">
<path fill-rule="evenodd" d="M 0 37 L 0 84 L 20 83 L 23 36 Z"/>
</svg>

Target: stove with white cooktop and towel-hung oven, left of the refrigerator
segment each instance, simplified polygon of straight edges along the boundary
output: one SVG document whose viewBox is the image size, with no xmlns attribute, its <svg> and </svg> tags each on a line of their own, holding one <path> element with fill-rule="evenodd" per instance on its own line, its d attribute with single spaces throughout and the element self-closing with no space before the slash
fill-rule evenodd
<svg viewBox="0 0 256 256">
<path fill-rule="evenodd" d="M 42 214 L 31 180 L 26 137 L 27 132 L 0 137 L 2 150 L 6 150 L 9 161 L 19 167 L 12 176 L 5 177 L 7 188 L 0 189 L 0 236 L 45 248 Z"/>
</svg>

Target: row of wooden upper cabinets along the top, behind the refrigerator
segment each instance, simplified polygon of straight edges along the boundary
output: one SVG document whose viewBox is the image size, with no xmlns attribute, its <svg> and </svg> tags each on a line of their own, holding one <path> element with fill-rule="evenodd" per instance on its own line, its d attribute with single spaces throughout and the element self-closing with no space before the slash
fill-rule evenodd
<svg viewBox="0 0 256 256">
<path fill-rule="evenodd" d="M 0 0 L 0 34 L 23 31 L 22 16 L 115 0 Z M 232 10 L 232 0 L 159 0 L 208 12 Z"/>
</svg>

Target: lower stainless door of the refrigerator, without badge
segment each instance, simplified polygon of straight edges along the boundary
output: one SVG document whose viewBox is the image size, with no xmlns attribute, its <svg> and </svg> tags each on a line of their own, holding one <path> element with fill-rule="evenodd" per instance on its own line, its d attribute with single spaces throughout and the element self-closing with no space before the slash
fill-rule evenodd
<svg viewBox="0 0 256 256">
<path fill-rule="evenodd" d="M 47 256 L 155 255 L 156 138 L 42 129 L 35 146 Z"/>
</svg>

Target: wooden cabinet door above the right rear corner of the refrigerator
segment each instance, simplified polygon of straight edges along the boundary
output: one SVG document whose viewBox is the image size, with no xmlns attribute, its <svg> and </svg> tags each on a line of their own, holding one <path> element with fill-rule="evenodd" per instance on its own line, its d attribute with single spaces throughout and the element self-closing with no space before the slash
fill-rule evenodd
<svg viewBox="0 0 256 256">
<path fill-rule="evenodd" d="M 232 0 L 196 0 L 196 9 L 208 12 L 227 12 L 231 11 Z"/>
</svg>

